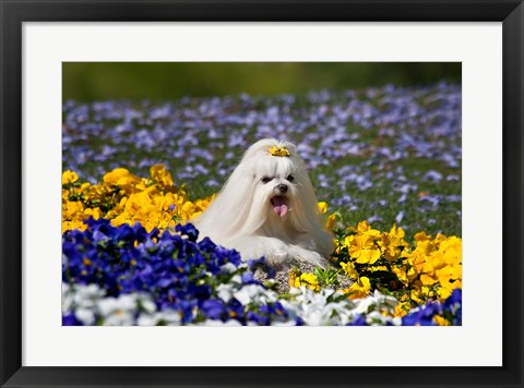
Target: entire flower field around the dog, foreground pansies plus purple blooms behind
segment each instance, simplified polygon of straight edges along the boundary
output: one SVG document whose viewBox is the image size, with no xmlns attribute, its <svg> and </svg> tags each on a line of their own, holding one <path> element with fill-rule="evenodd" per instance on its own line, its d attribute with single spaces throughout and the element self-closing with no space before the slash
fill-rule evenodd
<svg viewBox="0 0 524 388">
<path fill-rule="evenodd" d="M 461 109 L 444 83 L 67 101 L 64 325 L 461 325 Z M 263 137 L 297 144 L 336 243 L 285 292 L 191 227 Z"/>
</svg>

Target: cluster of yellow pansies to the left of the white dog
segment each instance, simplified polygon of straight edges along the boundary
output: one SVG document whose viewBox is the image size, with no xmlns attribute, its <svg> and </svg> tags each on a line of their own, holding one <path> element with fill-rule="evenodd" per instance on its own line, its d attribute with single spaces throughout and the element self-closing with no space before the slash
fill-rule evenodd
<svg viewBox="0 0 524 388">
<path fill-rule="evenodd" d="M 114 226 L 139 221 L 148 231 L 165 230 L 175 222 L 198 217 L 214 199 L 213 195 L 190 202 L 186 190 L 172 185 L 172 178 L 163 165 L 153 166 L 150 172 L 152 179 L 141 179 L 118 168 L 106 173 L 99 184 L 82 183 L 74 192 L 62 189 L 62 231 L 84 230 L 83 220 L 90 216 L 109 219 Z M 76 180 L 78 175 L 71 171 L 62 175 L 62 182 Z M 103 208 L 109 210 L 104 213 Z"/>
</svg>

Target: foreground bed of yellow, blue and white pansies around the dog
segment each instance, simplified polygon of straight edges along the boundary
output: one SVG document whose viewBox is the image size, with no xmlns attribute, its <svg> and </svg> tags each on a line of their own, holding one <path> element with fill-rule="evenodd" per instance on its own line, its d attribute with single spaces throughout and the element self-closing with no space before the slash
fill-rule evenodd
<svg viewBox="0 0 524 388">
<path fill-rule="evenodd" d="M 188 221 L 210 201 L 190 202 L 163 166 L 150 178 L 116 169 L 95 185 L 66 171 L 63 324 L 461 324 L 458 238 L 418 233 L 412 247 L 400 228 L 337 229 L 334 267 L 294 271 L 290 291 L 278 294 L 253 274 L 274 275 L 263 258 L 243 263 L 236 251 L 198 241 Z M 337 289 L 340 274 L 353 279 L 348 289 Z"/>
</svg>

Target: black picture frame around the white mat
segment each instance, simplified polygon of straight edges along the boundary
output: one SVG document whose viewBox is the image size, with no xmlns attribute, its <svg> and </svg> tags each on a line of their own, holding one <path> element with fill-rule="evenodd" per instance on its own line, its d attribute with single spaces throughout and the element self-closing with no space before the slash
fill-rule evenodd
<svg viewBox="0 0 524 388">
<path fill-rule="evenodd" d="M 502 22 L 503 366 L 22 366 L 22 24 L 93 21 Z M 522 0 L 0 0 L 0 23 L 1 387 L 523 387 Z M 481 351 L 481 338 L 476 351 Z"/>
</svg>

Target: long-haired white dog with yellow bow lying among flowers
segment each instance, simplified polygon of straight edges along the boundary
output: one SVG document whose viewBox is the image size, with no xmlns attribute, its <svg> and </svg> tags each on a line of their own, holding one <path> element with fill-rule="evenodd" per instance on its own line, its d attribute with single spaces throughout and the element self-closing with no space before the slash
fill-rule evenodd
<svg viewBox="0 0 524 388">
<path fill-rule="evenodd" d="M 201 238 L 240 252 L 324 266 L 334 250 L 296 147 L 273 138 L 253 144 L 210 207 L 196 219 Z"/>
</svg>

